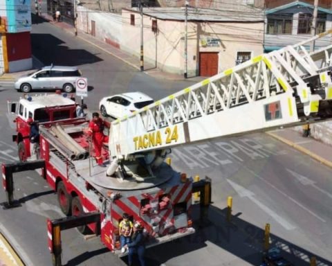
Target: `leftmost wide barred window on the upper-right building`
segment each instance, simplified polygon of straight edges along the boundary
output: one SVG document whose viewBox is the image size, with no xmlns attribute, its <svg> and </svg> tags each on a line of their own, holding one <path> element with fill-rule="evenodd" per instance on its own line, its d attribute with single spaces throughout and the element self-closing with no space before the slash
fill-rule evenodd
<svg viewBox="0 0 332 266">
<path fill-rule="evenodd" d="M 268 17 L 268 34 L 292 34 L 293 17 L 291 15 L 279 15 Z"/>
</svg>

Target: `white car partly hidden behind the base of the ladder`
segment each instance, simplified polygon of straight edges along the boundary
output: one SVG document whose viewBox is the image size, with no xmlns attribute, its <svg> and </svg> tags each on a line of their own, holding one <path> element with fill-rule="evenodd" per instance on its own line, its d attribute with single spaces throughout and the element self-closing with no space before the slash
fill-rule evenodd
<svg viewBox="0 0 332 266">
<path fill-rule="evenodd" d="M 151 103 L 154 103 L 154 100 L 146 94 L 127 92 L 102 98 L 99 109 L 102 116 L 120 118 Z"/>
</svg>

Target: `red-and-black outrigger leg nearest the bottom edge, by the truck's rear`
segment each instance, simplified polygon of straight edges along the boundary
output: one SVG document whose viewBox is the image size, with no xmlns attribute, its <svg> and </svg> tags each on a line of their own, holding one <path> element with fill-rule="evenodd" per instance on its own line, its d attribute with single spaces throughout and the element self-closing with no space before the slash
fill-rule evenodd
<svg viewBox="0 0 332 266">
<path fill-rule="evenodd" d="M 53 266 L 62 265 L 61 231 L 75 227 L 81 227 L 86 224 L 91 224 L 93 222 L 97 224 L 95 234 L 100 235 L 100 213 L 98 212 L 85 213 L 80 216 L 71 216 L 56 220 L 47 219 L 48 249 L 52 254 Z"/>
</svg>

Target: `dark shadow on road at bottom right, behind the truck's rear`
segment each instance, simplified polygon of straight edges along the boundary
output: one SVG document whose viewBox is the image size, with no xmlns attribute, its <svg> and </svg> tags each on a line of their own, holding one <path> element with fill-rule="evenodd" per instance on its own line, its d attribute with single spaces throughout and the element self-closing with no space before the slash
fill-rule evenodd
<svg viewBox="0 0 332 266">
<path fill-rule="evenodd" d="M 198 213 L 195 209 L 198 208 L 193 206 L 194 218 L 197 217 Z M 242 220 L 239 218 L 241 214 L 234 215 L 232 222 L 228 223 L 225 221 L 226 213 L 227 209 L 221 210 L 210 206 L 207 216 L 208 220 L 205 220 L 201 227 L 197 226 L 199 221 L 195 220 L 196 233 L 147 249 L 147 265 L 162 265 L 163 263 L 167 265 L 167 261 L 172 258 L 189 254 L 192 251 L 198 251 L 208 245 L 210 245 L 211 249 L 203 251 L 202 254 L 206 255 L 208 252 L 211 252 L 212 257 L 218 256 L 220 254 L 218 249 L 215 249 L 215 254 L 213 255 L 213 246 L 215 245 L 223 249 L 225 254 L 232 254 L 251 265 L 260 265 L 264 256 L 264 229 Z M 273 232 L 273 229 L 271 232 Z M 270 240 L 270 248 L 278 247 L 282 251 L 282 256 L 293 263 L 293 265 L 308 266 L 312 256 L 315 256 L 317 265 L 332 265 L 331 261 L 316 256 L 311 251 L 279 238 L 273 233 L 270 234 Z M 219 262 L 212 265 L 221 265 L 221 262 L 227 263 L 228 261 L 223 261 L 221 257 Z M 205 265 L 210 264 L 207 262 Z"/>
</svg>

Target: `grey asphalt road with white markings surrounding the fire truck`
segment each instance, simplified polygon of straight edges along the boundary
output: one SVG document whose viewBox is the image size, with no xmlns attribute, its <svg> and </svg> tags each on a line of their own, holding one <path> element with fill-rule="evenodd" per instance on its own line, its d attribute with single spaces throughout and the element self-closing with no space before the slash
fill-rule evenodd
<svg viewBox="0 0 332 266">
<path fill-rule="evenodd" d="M 47 23 L 32 31 L 33 54 L 44 64 L 77 65 L 89 78 L 86 100 L 97 109 L 100 98 L 124 91 L 143 91 L 162 98 L 188 82 L 156 80 L 131 69 L 97 48 L 77 41 Z M 10 84 L 0 87 L 0 161 L 17 159 L 11 143 L 6 100 L 17 99 Z M 222 125 L 221 125 L 222 126 Z M 148 265 L 259 265 L 264 227 L 271 240 L 295 265 L 332 265 L 331 168 L 279 143 L 266 134 L 187 145 L 172 152 L 179 172 L 212 178 L 212 200 L 205 222 L 194 236 L 147 251 Z M 225 222 L 228 196 L 233 197 L 233 223 Z M 59 218 L 57 197 L 36 172 L 15 175 L 15 198 L 21 206 L 0 209 L 0 230 L 27 265 L 50 265 L 46 218 Z M 0 202 L 6 199 L 0 193 Z M 196 208 L 194 218 L 198 217 Z M 84 240 L 75 229 L 62 238 L 64 265 L 110 265 L 113 255 L 98 238 Z"/>
</svg>

